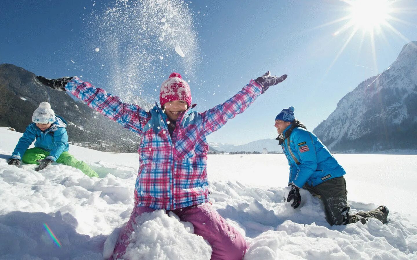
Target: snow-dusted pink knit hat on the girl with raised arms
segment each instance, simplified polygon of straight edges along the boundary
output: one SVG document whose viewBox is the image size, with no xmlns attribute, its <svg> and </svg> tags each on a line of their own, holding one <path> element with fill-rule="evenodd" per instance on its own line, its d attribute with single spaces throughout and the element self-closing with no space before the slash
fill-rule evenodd
<svg viewBox="0 0 417 260">
<path fill-rule="evenodd" d="M 159 102 L 163 106 L 166 102 L 183 100 L 191 106 L 191 90 L 188 83 L 182 79 L 179 73 L 173 72 L 161 85 Z"/>
</svg>

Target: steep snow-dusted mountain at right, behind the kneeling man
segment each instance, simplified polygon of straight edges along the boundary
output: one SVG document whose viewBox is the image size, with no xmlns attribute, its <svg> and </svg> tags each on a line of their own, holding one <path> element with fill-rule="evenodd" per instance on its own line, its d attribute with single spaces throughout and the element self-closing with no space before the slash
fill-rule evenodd
<svg viewBox="0 0 417 260">
<path fill-rule="evenodd" d="M 381 74 L 344 96 L 314 133 L 334 151 L 417 147 L 417 41 Z"/>
</svg>

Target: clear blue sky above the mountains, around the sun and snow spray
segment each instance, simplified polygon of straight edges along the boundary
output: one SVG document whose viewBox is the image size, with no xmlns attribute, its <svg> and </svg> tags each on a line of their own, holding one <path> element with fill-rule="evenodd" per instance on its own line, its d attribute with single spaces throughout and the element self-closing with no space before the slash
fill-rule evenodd
<svg viewBox="0 0 417 260">
<path fill-rule="evenodd" d="M 191 80 L 193 103 L 198 104 L 199 111 L 229 99 L 250 79 L 267 70 L 276 75 L 289 75 L 285 82 L 259 97 L 247 111 L 208 136 L 208 141 L 245 144 L 275 138 L 274 118 L 288 106 L 294 106 L 296 117 L 312 130 L 327 119 L 345 94 L 368 77 L 387 69 L 405 44 L 417 40 L 415 0 L 392 4 L 392 7 L 402 8 L 392 15 L 405 23 L 394 20 L 389 23 L 402 36 L 382 27 L 382 33 L 374 36 L 375 63 L 369 33 L 364 37 L 362 32 L 355 34 L 336 59 L 352 30 L 333 35 L 347 21 L 319 27 L 348 15 L 346 2 L 187 3 L 193 22 L 191 29 L 196 32 L 197 44 L 193 46 L 198 52 L 192 57 L 196 62 L 192 63 L 191 71 L 184 74 L 186 69 L 181 60 L 178 62 L 181 57 L 174 50 L 165 51 L 172 55 L 155 61 L 159 66 L 155 74 L 142 75 L 140 95 L 148 102 L 158 100 L 156 86 L 172 71 Z M 115 52 L 123 57 L 123 48 L 100 46 L 103 38 L 98 37 L 95 30 L 105 28 L 100 24 L 106 21 L 97 17 L 111 5 L 89 0 L 3 1 L 0 63 L 15 64 L 50 78 L 82 75 L 83 80 L 123 98 L 125 90 L 113 86 L 114 81 L 123 81 L 128 74 L 126 69 L 117 75 L 114 72 L 121 62 L 114 58 Z M 132 34 L 135 32 L 132 30 Z M 100 51 L 95 52 L 94 47 L 100 47 Z M 158 56 L 159 53 L 155 53 L 155 57 Z M 164 63 L 169 65 L 165 69 Z"/>
</svg>

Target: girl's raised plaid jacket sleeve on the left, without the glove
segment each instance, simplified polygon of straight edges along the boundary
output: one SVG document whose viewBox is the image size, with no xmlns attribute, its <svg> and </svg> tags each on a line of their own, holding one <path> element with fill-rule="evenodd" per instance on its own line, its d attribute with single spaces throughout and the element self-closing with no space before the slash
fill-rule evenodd
<svg viewBox="0 0 417 260">
<path fill-rule="evenodd" d="M 119 97 L 96 88 L 89 82 L 83 82 L 78 77 L 71 79 L 65 89 L 100 114 L 137 134 L 142 133 L 143 126 L 151 116 L 138 105 L 123 103 Z"/>
</svg>

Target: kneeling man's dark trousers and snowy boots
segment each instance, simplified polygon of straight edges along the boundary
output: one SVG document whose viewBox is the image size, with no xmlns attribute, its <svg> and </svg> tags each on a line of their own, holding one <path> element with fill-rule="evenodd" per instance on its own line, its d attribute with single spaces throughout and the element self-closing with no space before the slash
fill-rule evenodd
<svg viewBox="0 0 417 260">
<path fill-rule="evenodd" d="M 349 214 L 350 207 L 347 203 L 346 180 L 343 176 L 332 178 L 316 186 L 304 184 L 303 188 L 322 199 L 326 220 L 330 225 L 346 225 L 358 221 L 364 224 L 369 218 L 376 218 L 382 223 L 387 222 L 387 216 L 377 209 L 358 212 L 354 215 Z"/>
</svg>

